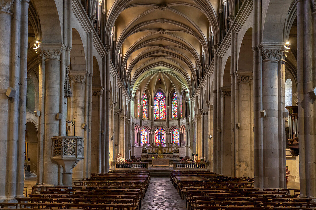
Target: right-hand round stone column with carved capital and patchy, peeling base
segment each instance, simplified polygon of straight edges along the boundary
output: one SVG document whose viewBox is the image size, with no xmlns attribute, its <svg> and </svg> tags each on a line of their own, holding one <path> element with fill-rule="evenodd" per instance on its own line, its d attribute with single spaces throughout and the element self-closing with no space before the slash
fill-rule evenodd
<svg viewBox="0 0 316 210">
<path fill-rule="evenodd" d="M 252 83 L 252 73 L 251 72 L 240 72 L 237 71 L 238 78 L 238 92 L 236 92 L 236 99 L 238 100 L 238 107 L 236 107 L 236 112 L 238 112 L 238 118 L 234 123 L 240 125 L 238 128 L 237 135 L 238 142 L 236 142 L 236 176 L 237 177 L 253 177 L 253 157 L 252 155 L 252 145 L 251 142 L 253 131 L 252 131 L 252 115 L 251 115 L 251 83 Z"/>
</svg>

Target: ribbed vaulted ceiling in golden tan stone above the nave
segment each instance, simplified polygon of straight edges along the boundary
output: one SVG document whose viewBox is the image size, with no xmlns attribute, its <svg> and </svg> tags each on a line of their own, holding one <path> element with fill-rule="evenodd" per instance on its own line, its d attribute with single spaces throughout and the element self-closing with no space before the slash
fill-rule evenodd
<svg viewBox="0 0 316 210">
<path fill-rule="evenodd" d="M 208 61 L 208 42 L 217 29 L 217 0 L 109 0 L 106 40 L 115 40 L 120 75 L 136 89 L 164 86 L 190 94 L 198 69 Z M 114 27 L 113 27 L 114 26 Z M 151 90 L 155 91 L 155 90 Z"/>
</svg>

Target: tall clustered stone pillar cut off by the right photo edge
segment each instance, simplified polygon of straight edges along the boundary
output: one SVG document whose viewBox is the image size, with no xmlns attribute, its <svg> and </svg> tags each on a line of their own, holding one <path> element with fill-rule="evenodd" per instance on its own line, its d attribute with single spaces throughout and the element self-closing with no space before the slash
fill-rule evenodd
<svg viewBox="0 0 316 210">
<path fill-rule="evenodd" d="M 312 5 L 311 5 L 312 3 Z M 316 198 L 316 1 L 296 0 L 300 197 Z"/>
</svg>

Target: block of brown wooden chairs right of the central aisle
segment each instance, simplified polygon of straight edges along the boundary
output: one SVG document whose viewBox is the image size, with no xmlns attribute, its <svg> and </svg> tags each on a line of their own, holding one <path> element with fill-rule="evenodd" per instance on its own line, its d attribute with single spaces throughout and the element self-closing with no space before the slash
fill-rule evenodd
<svg viewBox="0 0 316 210">
<path fill-rule="evenodd" d="M 254 188 L 252 178 L 229 178 L 200 171 L 172 171 L 170 178 L 179 195 L 183 199 L 186 196 L 188 210 L 316 207 L 316 204 L 310 203 L 311 199 L 298 198 L 296 192 L 299 190 L 290 193 L 288 189 Z"/>
</svg>

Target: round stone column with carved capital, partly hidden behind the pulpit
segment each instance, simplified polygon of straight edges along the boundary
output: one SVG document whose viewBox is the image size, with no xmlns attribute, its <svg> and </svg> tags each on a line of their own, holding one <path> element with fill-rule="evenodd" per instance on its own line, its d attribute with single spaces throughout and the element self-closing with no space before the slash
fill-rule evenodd
<svg viewBox="0 0 316 210">
<path fill-rule="evenodd" d="M 73 83 L 73 118 L 76 118 L 76 133 L 74 136 L 84 137 L 84 129 L 82 124 L 88 124 L 85 122 L 85 84 L 86 84 L 87 72 L 72 71 L 71 80 Z M 84 139 L 84 145 L 87 145 L 88 139 Z M 84 148 L 87 149 L 87 148 Z M 89 157 L 84 157 L 77 166 L 73 169 L 73 178 L 80 179 L 84 178 L 84 162 L 88 160 Z"/>
</svg>

